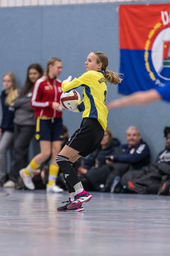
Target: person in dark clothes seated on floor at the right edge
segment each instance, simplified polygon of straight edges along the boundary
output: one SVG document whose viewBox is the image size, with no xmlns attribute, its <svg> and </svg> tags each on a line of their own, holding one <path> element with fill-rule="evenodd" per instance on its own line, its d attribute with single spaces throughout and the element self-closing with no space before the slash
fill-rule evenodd
<svg viewBox="0 0 170 256">
<path fill-rule="evenodd" d="M 123 192 L 169 194 L 170 189 L 170 127 L 165 127 L 166 146 L 154 164 L 141 170 L 128 171 L 121 179 Z"/>
</svg>

